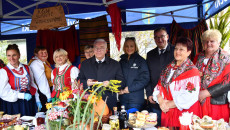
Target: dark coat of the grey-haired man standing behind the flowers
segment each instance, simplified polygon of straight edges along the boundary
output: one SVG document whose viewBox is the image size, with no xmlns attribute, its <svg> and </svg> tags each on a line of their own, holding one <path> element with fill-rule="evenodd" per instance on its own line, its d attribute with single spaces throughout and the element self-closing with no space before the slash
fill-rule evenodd
<svg viewBox="0 0 230 130">
<path fill-rule="evenodd" d="M 107 56 L 105 57 L 105 61 L 100 65 L 97 63 L 95 56 L 83 61 L 78 79 L 83 83 L 84 89 L 88 88 L 88 79 L 95 79 L 99 82 L 106 80 L 124 80 L 120 64 Z M 124 85 L 122 85 L 120 89 L 123 89 L 123 87 Z M 105 91 L 105 94 L 102 96 L 103 100 L 105 100 L 106 96 L 108 96 L 106 103 L 108 107 L 113 110 L 113 107 L 117 104 L 117 94 Z"/>
</svg>

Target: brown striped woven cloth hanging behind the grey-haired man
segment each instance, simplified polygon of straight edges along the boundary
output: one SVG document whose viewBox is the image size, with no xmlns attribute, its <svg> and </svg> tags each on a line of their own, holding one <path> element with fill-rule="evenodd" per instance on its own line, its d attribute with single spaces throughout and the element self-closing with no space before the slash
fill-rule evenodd
<svg viewBox="0 0 230 130">
<path fill-rule="evenodd" d="M 79 38 L 81 61 L 85 60 L 84 47 L 93 45 L 93 42 L 100 38 L 104 39 L 108 44 L 109 50 L 109 27 L 105 15 L 93 19 L 79 20 Z M 109 54 L 109 51 L 107 52 Z"/>
</svg>

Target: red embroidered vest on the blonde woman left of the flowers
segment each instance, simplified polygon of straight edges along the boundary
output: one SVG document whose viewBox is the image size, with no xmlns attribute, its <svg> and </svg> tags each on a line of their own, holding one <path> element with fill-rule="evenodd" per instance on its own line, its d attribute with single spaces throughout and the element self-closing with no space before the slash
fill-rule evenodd
<svg viewBox="0 0 230 130">
<path fill-rule="evenodd" d="M 54 79 L 53 79 L 53 84 L 55 86 L 55 90 L 61 90 L 63 91 L 64 87 L 67 87 L 68 89 L 72 89 L 71 88 L 71 76 L 70 76 L 70 71 L 72 69 L 72 65 L 71 66 L 67 66 L 66 70 L 63 72 L 63 74 L 58 74 L 59 73 L 59 69 L 55 68 L 53 70 L 53 75 L 54 75 Z"/>
</svg>

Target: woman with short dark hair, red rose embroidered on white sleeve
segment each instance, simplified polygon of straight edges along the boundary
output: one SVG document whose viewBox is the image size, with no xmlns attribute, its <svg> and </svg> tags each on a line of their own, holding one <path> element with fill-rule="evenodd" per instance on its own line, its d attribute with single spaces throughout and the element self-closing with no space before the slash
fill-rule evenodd
<svg viewBox="0 0 230 130">
<path fill-rule="evenodd" d="M 162 71 L 153 92 L 154 100 L 162 110 L 161 125 L 179 127 L 179 116 L 183 112 L 193 112 L 202 116 L 198 95 L 200 75 L 196 66 L 188 58 L 193 43 L 190 39 L 177 39 L 174 60 Z"/>
</svg>

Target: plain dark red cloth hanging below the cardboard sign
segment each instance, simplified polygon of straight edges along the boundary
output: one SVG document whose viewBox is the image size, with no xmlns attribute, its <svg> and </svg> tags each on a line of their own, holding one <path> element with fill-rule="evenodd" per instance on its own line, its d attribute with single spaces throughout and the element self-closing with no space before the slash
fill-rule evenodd
<svg viewBox="0 0 230 130">
<path fill-rule="evenodd" d="M 68 52 L 68 57 L 71 62 L 74 62 L 75 57 L 79 56 L 75 25 L 65 31 L 38 30 L 36 45 L 47 48 L 49 54 L 48 61 L 51 64 L 54 64 L 53 52 L 58 48 L 63 48 Z"/>
</svg>

